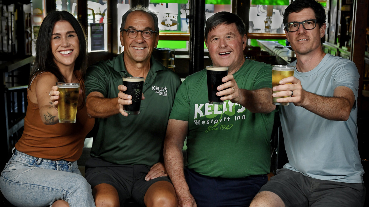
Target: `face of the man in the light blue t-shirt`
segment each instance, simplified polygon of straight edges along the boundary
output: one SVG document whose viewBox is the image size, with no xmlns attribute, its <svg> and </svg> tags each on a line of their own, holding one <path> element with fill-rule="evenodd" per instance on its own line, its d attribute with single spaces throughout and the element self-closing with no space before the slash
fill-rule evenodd
<svg viewBox="0 0 369 207">
<path fill-rule="evenodd" d="M 305 20 L 316 19 L 314 10 L 311 8 L 304 8 L 300 12 L 290 13 L 288 15 L 288 22 L 302 22 Z M 311 52 L 321 50 L 320 38 L 325 34 L 324 24 L 323 27 L 319 27 L 317 23 L 314 29 L 306 30 L 303 25 L 300 25 L 299 30 L 295 32 L 286 32 L 286 38 L 290 42 L 292 49 L 296 54 L 306 55 Z"/>
</svg>

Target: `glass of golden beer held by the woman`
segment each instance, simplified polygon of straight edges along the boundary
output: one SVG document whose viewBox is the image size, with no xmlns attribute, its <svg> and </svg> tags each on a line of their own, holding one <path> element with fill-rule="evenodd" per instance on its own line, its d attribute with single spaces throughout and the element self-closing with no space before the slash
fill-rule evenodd
<svg viewBox="0 0 369 207">
<path fill-rule="evenodd" d="M 59 123 L 76 123 L 79 83 L 56 83 L 59 91 Z"/>
</svg>

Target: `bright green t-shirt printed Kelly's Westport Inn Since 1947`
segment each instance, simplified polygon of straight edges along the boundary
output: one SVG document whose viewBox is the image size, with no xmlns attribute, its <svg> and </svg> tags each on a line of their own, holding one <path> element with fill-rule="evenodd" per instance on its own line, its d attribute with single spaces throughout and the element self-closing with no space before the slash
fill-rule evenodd
<svg viewBox="0 0 369 207">
<path fill-rule="evenodd" d="M 269 64 L 246 60 L 233 76 L 239 88 L 272 88 Z M 187 167 L 221 178 L 269 173 L 274 113 L 251 113 L 228 100 L 209 104 L 206 84 L 206 69 L 187 76 L 169 117 L 188 121 Z"/>
</svg>

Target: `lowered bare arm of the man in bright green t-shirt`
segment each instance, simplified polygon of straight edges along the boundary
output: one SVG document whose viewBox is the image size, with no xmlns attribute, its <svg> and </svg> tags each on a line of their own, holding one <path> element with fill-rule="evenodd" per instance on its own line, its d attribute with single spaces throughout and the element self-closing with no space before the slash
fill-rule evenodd
<svg viewBox="0 0 369 207">
<path fill-rule="evenodd" d="M 182 149 L 187 130 L 187 121 L 169 119 L 164 140 L 164 162 L 177 194 L 178 206 L 196 207 L 183 173 Z"/>
</svg>

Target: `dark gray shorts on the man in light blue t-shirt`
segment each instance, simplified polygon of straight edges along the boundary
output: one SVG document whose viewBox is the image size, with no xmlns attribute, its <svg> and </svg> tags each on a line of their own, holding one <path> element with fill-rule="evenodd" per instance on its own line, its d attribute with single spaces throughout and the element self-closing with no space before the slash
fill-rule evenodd
<svg viewBox="0 0 369 207">
<path fill-rule="evenodd" d="M 262 191 L 277 194 L 286 207 L 362 207 L 365 201 L 363 183 L 319 180 L 289 169 L 277 170 Z"/>
</svg>

